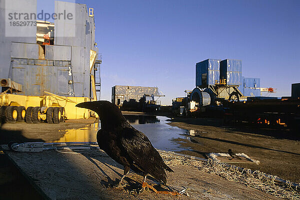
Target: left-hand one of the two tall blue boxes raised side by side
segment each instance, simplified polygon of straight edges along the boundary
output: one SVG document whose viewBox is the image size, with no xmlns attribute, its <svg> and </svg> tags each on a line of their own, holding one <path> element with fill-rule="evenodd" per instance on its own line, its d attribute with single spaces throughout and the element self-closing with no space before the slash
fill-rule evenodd
<svg viewBox="0 0 300 200">
<path fill-rule="evenodd" d="M 206 59 L 196 63 L 196 86 L 204 88 L 219 81 L 220 59 Z"/>
</svg>

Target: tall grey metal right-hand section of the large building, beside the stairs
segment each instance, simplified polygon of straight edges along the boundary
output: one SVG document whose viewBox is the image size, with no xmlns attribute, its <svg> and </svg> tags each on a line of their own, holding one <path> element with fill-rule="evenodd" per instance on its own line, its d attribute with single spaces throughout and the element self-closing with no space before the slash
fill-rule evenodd
<svg viewBox="0 0 300 200">
<path fill-rule="evenodd" d="M 55 1 L 55 12 L 63 12 L 64 9 L 73 6 L 73 3 Z M 98 52 L 94 47 L 95 25 L 93 17 L 88 16 L 88 10 L 84 4 L 75 4 L 74 32 L 70 31 L 69 25 L 63 20 L 55 20 L 54 42 L 59 45 L 72 46 L 71 67 L 75 96 L 92 96 L 90 92 L 89 74 L 89 51 L 90 49 Z M 75 37 L 73 35 L 75 34 Z M 61 36 L 63 35 L 63 37 Z M 91 74 L 94 74 L 93 70 Z"/>
</svg>

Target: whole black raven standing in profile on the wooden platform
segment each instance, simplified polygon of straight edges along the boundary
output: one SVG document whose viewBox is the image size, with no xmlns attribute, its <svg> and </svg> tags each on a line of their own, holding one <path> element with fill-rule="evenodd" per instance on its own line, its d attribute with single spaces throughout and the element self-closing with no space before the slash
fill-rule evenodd
<svg viewBox="0 0 300 200">
<path fill-rule="evenodd" d="M 173 170 L 163 162 L 148 137 L 132 127 L 116 105 L 106 100 L 98 100 L 78 103 L 76 106 L 93 110 L 99 115 L 101 129 L 97 132 L 98 145 L 107 155 L 124 166 L 124 175 L 116 186 L 121 185 L 130 168 L 135 172 L 142 172 L 143 183 L 147 175 L 150 175 L 166 184 L 164 170 Z"/>
</svg>

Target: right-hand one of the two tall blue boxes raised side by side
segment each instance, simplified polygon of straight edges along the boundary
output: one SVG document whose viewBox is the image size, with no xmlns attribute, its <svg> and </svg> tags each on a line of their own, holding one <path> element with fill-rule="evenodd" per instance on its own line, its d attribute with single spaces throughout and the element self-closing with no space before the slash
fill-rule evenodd
<svg viewBox="0 0 300 200">
<path fill-rule="evenodd" d="M 240 85 L 241 60 L 224 59 L 220 61 L 220 79 L 226 79 L 227 85 Z"/>
</svg>

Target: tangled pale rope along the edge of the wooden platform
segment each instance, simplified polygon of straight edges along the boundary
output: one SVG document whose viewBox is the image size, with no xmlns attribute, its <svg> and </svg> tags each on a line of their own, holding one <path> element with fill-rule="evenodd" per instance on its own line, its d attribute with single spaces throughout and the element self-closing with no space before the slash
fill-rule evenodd
<svg viewBox="0 0 300 200">
<path fill-rule="evenodd" d="M 254 187 L 279 198 L 300 200 L 299 185 L 291 181 L 282 181 L 277 176 L 263 173 L 259 170 L 230 165 L 208 159 L 206 162 L 196 159 L 189 159 L 183 156 L 159 152 L 167 165 L 186 165 L 208 173 L 219 175 L 229 181 L 239 182 Z"/>
</svg>

